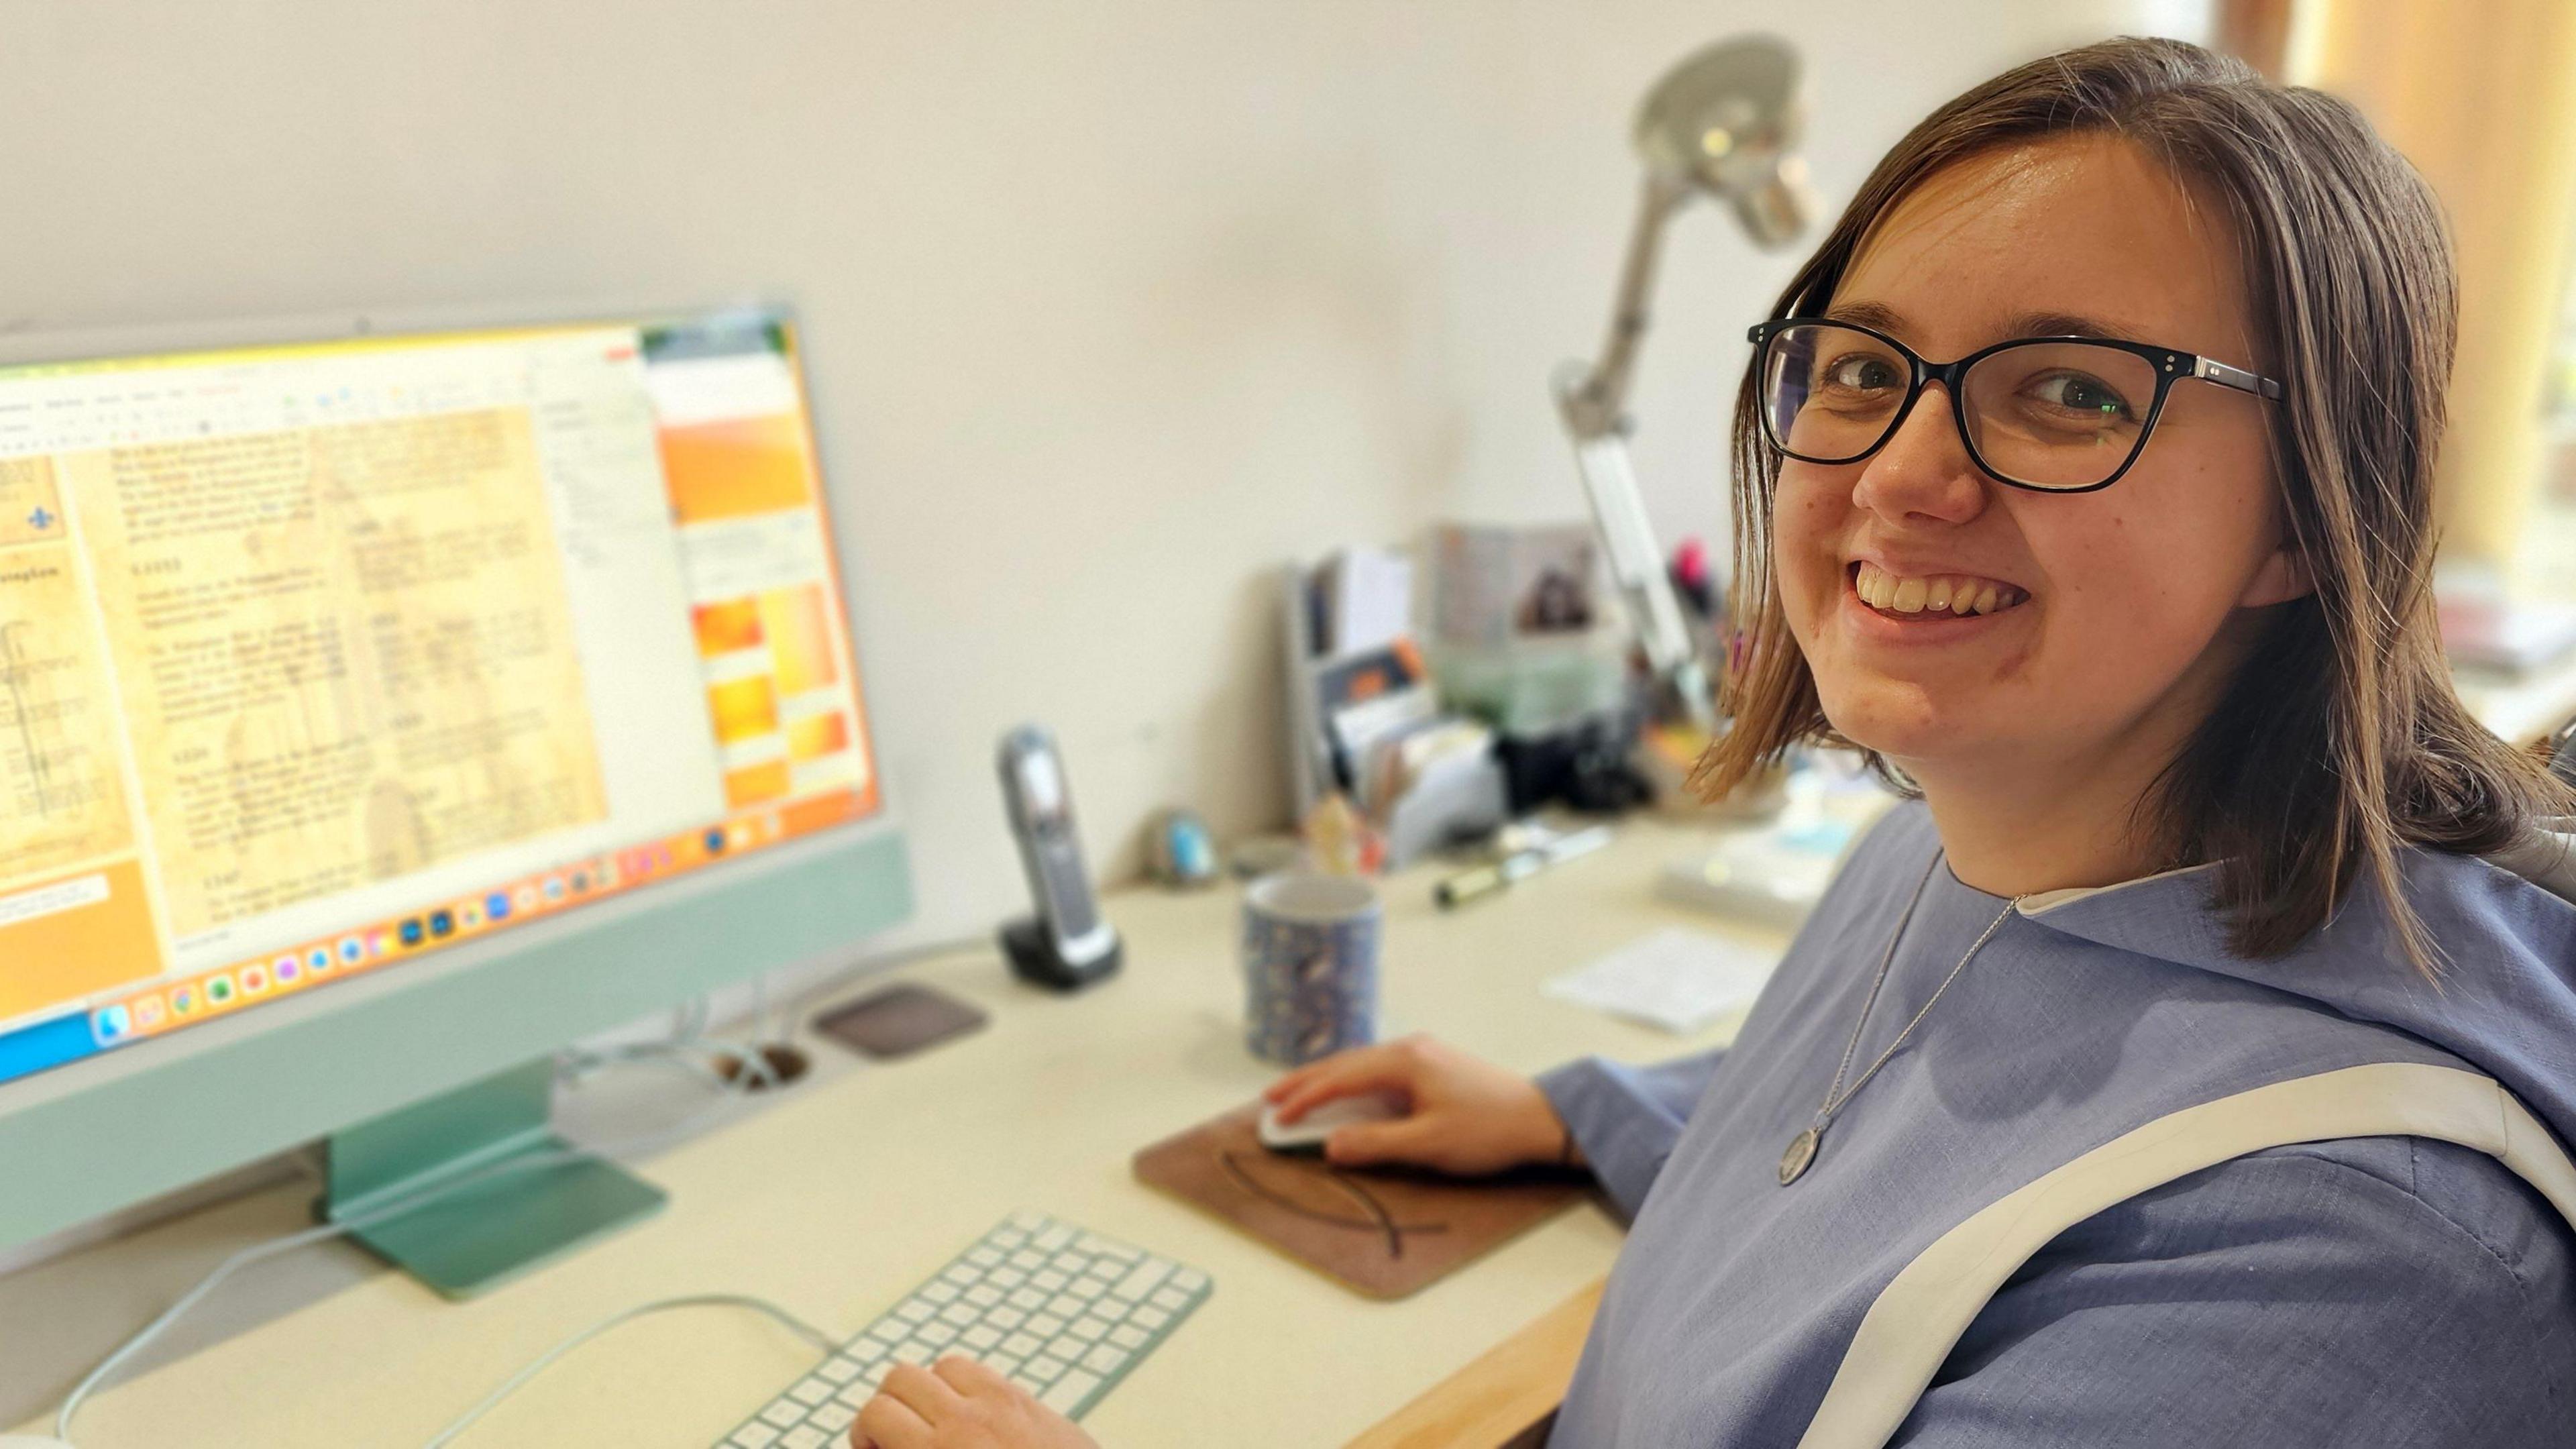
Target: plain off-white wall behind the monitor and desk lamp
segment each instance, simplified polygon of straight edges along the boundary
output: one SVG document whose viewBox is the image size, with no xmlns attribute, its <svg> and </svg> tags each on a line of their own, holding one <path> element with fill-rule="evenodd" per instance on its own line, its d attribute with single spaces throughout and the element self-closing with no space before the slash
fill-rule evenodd
<svg viewBox="0 0 2576 1449">
<path fill-rule="evenodd" d="M 1628 113 L 1772 28 L 1839 204 L 1929 106 L 2200 0 L 0 0 L 0 325 L 786 294 L 806 317 L 917 933 L 1023 897 L 989 750 L 1066 748 L 1115 874 L 1283 812 L 1267 567 L 1569 518 L 1546 397 L 1628 227 Z M 1669 250 L 1638 384 L 1713 531 L 1790 260 Z"/>
</svg>

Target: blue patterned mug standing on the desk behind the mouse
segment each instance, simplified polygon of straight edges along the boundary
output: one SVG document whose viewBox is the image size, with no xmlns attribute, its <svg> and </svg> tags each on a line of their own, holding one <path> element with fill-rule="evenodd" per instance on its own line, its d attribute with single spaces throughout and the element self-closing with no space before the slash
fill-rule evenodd
<svg viewBox="0 0 2576 1449">
<path fill-rule="evenodd" d="M 1244 1047 L 1296 1067 L 1378 1036 L 1378 892 L 1283 871 L 1244 892 Z"/>
</svg>

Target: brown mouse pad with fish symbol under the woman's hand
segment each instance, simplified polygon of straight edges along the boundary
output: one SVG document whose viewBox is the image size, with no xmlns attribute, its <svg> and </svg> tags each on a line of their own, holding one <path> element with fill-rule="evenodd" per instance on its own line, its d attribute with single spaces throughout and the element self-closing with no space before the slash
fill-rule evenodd
<svg viewBox="0 0 2576 1449">
<path fill-rule="evenodd" d="M 1136 1152 L 1136 1181 L 1242 1227 L 1368 1297 L 1406 1297 L 1556 1217 L 1584 1181 L 1556 1171 L 1450 1178 L 1334 1168 L 1255 1137 L 1262 1104 L 1211 1116 Z"/>
</svg>

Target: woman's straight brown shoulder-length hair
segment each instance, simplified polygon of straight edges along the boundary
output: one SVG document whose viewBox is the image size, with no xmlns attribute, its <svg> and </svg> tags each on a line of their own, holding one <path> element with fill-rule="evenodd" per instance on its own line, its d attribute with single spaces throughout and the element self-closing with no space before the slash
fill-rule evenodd
<svg viewBox="0 0 2576 1449">
<path fill-rule="evenodd" d="M 2450 686 L 2432 601 L 2432 464 L 2458 278 L 2432 191 L 2349 103 L 2182 41 L 2117 39 L 2030 62 L 1914 126 L 1772 315 L 1824 312 L 1870 229 L 1932 173 L 2069 134 L 2125 137 L 2233 222 L 2254 343 L 2285 389 L 2267 410 L 2272 474 L 2313 583 L 2269 608 L 2130 825 L 2164 866 L 2218 861 L 2215 905 L 2246 957 L 2290 951 L 2367 871 L 2401 951 L 2432 972 L 2439 951 L 2398 890 L 2398 851 L 2501 851 L 2576 799 Z M 1757 407 L 1749 366 L 1734 418 L 1734 722 L 1692 773 L 1710 799 L 1795 743 L 1847 743 L 1780 614 L 1780 459 Z M 1870 763 L 1909 789 L 1886 761 Z"/>
</svg>

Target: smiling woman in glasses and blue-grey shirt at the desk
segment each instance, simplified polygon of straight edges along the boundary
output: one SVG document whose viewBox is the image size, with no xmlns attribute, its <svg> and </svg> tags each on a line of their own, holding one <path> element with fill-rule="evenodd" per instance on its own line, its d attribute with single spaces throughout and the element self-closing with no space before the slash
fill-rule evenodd
<svg viewBox="0 0 2576 1449">
<path fill-rule="evenodd" d="M 2571 1441 L 2576 802 L 2434 637 L 2452 286 L 2349 106 L 2172 41 L 1868 178 L 1754 330 L 1703 779 L 1839 740 L 1919 802 L 1723 1055 L 1267 1093 L 1409 1098 L 1337 1163 L 1589 1163 L 1556 1444 Z M 889 1449 L 1005 1403 L 917 1379 Z"/>
</svg>

